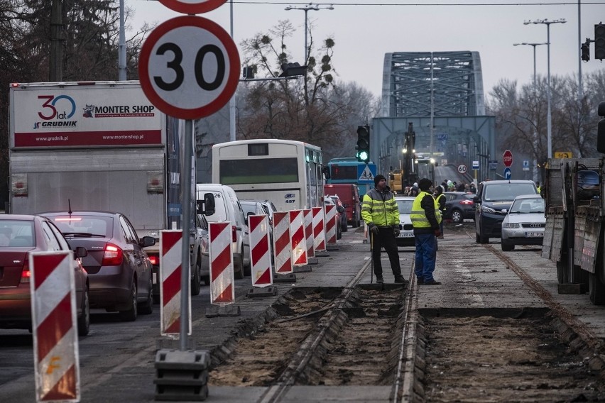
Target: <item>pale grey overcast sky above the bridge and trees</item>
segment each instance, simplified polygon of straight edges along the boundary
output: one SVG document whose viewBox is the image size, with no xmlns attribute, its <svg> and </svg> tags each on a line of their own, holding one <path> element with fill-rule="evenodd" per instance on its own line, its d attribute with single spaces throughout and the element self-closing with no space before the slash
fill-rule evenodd
<svg viewBox="0 0 605 403">
<path fill-rule="evenodd" d="M 188 0 L 192 3 L 194 0 Z M 200 2 L 203 2 L 200 1 Z M 161 23 L 181 13 L 171 11 L 159 1 L 125 0 L 135 10 L 133 28 L 144 22 Z M 289 20 L 296 32 L 287 44 L 293 61 L 302 62 L 305 48 L 305 11 L 285 7 L 302 7 L 308 2 L 233 1 L 233 33 L 238 48 L 242 40 L 265 33 L 278 21 Z M 354 81 L 376 96 L 382 90 L 385 53 L 441 52 L 470 50 L 481 55 L 484 91 L 489 92 L 501 79 L 516 79 L 529 84 L 533 79 L 533 47 L 513 43 L 547 42 L 547 26 L 524 25 L 523 21 L 565 18 L 567 23 L 550 26 L 550 74 L 578 74 L 579 42 L 594 39 L 594 24 L 605 22 L 605 0 L 581 1 L 581 35 L 578 35 L 577 1 L 361 1 L 337 0 L 314 2 L 320 7 L 331 4 L 333 10 L 308 11 L 315 43 L 334 39 L 333 65 L 337 79 Z M 219 23 L 230 32 L 231 4 L 200 14 Z M 126 33 L 129 37 L 129 33 Z M 579 40 L 581 38 L 581 40 Z M 605 69 L 594 60 L 582 62 L 582 72 Z M 536 47 L 538 75 L 547 74 L 547 46 Z"/>
</svg>

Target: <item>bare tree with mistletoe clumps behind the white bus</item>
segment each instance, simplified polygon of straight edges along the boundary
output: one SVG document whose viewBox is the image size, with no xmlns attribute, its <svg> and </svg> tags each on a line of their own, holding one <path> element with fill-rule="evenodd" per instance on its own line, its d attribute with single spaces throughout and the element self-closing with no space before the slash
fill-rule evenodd
<svg viewBox="0 0 605 403">
<path fill-rule="evenodd" d="M 290 62 L 286 40 L 294 29 L 280 21 L 268 33 L 258 33 L 241 43 L 247 65 L 257 74 L 275 78 L 278 67 Z M 327 157 L 354 155 L 355 128 L 374 113 L 374 96 L 357 85 L 342 86 L 334 79 L 334 40 L 327 38 L 316 51 L 311 36 L 305 77 L 292 80 L 246 83 L 240 98 L 237 133 L 241 138 L 287 138 L 320 145 Z M 354 118 L 351 118 L 354 117 Z"/>
</svg>

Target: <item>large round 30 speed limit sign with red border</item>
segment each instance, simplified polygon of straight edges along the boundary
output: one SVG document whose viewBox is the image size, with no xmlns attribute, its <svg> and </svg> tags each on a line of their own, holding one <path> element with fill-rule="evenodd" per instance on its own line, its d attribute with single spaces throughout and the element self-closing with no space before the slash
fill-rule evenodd
<svg viewBox="0 0 605 403">
<path fill-rule="evenodd" d="M 143 43 L 138 75 L 160 111 L 182 119 L 214 114 L 239 82 L 239 53 L 231 36 L 206 18 L 161 23 Z"/>
</svg>

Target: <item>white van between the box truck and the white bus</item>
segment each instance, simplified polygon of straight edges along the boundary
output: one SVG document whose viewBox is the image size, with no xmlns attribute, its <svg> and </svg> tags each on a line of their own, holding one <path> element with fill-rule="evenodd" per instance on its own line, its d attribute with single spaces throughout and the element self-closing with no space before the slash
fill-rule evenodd
<svg viewBox="0 0 605 403">
<path fill-rule="evenodd" d="M 206 216 L 209 223 L 231 223 L 231 251 L 233 252 L 233 271 L 236 279 L 250 275 L 250 233 L 246 225 L 244 210 L 231 187 L 217 183 L 198 183 L 195 187 L 197 201 L 204 200 L 207 193 L 214 196 L 214 214 Z"/>
</svg>

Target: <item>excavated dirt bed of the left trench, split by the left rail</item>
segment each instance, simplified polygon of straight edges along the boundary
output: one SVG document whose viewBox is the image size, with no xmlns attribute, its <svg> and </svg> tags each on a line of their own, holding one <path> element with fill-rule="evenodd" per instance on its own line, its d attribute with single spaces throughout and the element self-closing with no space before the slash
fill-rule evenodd
<svg viewBox="0 0 605 403">
<path fill-rule="evenodd" d="M 339 290 L 340 291 L 340 290 Z M 278 319 L 254 336 L 240 338 L 234 353 L 209 373 L 209 386 L 268 386 L 285 370 L 290 358 L 310 334 L 323 325 L 320 317 L 339 292 L 296 289 L 274 304 Z M 326 332 L 307 374 L 299 385 L 389 385 L 397 319 L 404 290 L 356 289 L 334 329 Z M 303 316 L 313 311 L 317 314 Z M 329 315 L 329 314 L 327 314 Z"/>
</svg>

